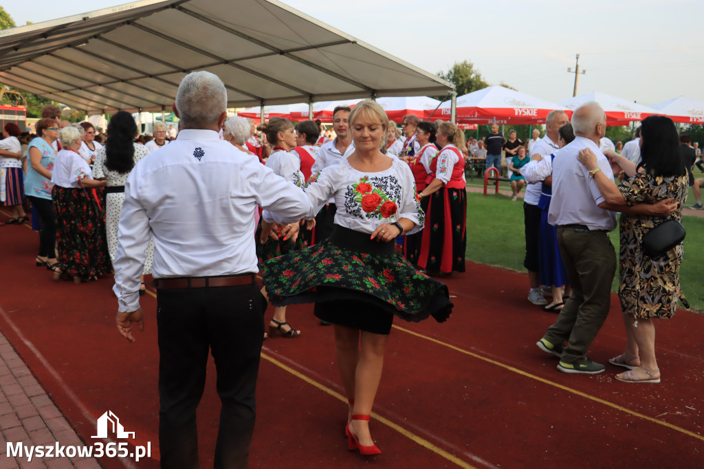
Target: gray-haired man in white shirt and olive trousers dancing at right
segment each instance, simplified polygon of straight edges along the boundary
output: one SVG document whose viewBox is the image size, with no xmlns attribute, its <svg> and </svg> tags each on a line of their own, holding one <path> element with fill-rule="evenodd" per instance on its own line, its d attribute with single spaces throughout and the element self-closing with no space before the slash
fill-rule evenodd
<svg viewBox="0 0 704 469">
<path fill-rule="evenodd" d="M 633 207 L 610 204 L 599 192 L 594 175 L 598 171 L 613 180 L 608 159 L 598 144 L 606 130 L 606 115 L 596 102 L 586 103 L 572 114 L 574 141 L 555 154 L 553 198 L 548 222 L 558 227 L 562 261 L 572 285 L 572 295 L 560 310 L 555 324 L 536 345 L 560 357 L 563 373 L 596 374 L 604 365 L 586 358 L 586 352 L 609 312 L 611 282 L 616 255 L 608 232 L 616 227 L 615 210 L 629 213 L 672 213 L 672 199 Z M 598 168 L 587 170 L 577 156 L 586 149 L 596 154 Z M 564 342 L 568 342 L 564 346 Z"/>
</svg>

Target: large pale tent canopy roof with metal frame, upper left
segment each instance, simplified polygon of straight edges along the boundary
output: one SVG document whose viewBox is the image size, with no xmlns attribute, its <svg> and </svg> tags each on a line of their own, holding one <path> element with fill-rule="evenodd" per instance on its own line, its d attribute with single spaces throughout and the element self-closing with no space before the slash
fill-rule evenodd
<svg viewBox="0 0 704 469">
<path fill-rule="evenodd" d="M 275 0 L 142 0 L 0 31 L 0 82 L 89 113 L 168 109 L 194 70 L 229 106 L 453 89 Z"/>
</svg>

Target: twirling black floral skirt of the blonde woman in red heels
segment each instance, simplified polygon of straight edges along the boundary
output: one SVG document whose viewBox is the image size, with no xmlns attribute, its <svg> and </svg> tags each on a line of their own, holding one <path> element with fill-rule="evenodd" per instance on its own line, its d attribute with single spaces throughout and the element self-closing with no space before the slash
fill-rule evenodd
<svg viewBox="0 0 704 469">
<path fill-rule="evenodd" d="M 329 239 L 260 264 L 275 306 L 316 303 L 318 318 L 389 334 L 394 315 L 444 322 L 452 312 L 445 284 L 395 253 L 395 243 L 335 225 Z"/>
</svg>

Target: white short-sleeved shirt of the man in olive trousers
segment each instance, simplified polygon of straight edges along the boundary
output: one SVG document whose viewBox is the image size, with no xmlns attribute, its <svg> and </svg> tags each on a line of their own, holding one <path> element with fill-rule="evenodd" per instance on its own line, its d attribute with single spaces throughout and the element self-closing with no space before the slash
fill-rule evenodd
<svg viewBox="0 0 704 469">
<path fill-rule="evenodd" d="M 553 199 L 548 223 L 551 225 L 586 225 L 589 230 L 611 231 L 616 227 L 616 213 L 599 208 L 605 201 L 589 170 L 579 163 L 579 151 L 589 148 L 604 174 L 613 180 L 608 159 L 596 143 L 586 137 L 576 137 L 560 150 L 553 161 Z"/>
</svg>

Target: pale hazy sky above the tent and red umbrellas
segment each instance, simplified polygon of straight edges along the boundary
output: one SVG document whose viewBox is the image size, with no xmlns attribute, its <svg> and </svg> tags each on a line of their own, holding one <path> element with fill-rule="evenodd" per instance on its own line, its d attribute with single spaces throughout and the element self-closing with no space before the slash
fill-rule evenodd
<svg viewBox="0 0 704 469">
<path fill-rule="evenodd" d="M 0 0 L 17 25 L 124 3 Z M 576 54 L 586 70 L 578 95 L 602 92 L 646 106 L 681 95 L 704 101 L 702 0 L 282 3 L 430 73 L 467 60 L 490 85 L 505 82 L 548 101 L 572 97 L 567 68 L 574 70 Z"/>
</svg>

